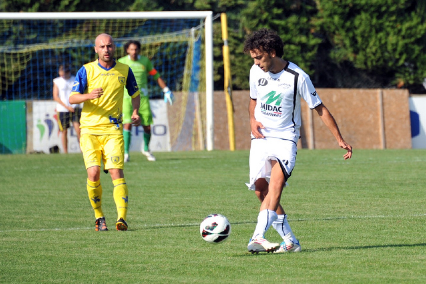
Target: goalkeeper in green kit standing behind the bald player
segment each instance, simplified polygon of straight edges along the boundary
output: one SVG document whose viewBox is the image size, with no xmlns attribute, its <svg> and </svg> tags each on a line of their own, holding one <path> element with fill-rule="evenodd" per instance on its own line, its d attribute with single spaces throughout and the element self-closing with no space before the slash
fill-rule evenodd
<svg viewBox="0 0 426 284">
<path fill-rule="evenodd" d="M 150 108 L 149 96 L 148 96 L 148 75 L 153 76 L 157 80 L 158 86 L 163 89 L 164 101 L 173 104 L 174 97 L 173 93 L 167 87 L 160 74 L 155 70 L 151 61 L 145 57 L 139 55 L 141 52 L 141 43 L 136 40 L 130 40 L 124 45 L 124 50 L 127 56 L 118 59 L 118 62 L 127 64 L 132 69 L 135 75 L 136 82 L 138 83 L 139 91 L 141 92 L 141 106 L 139 107 L 139 116 L 141 117 L 141 125 L 144 128 L 144 148 L 141 149 L 143 155 L 145 155 L 148 161 L 155 161 L 155 157 L 150 152 L 149 144 L 151 140 L 151 124 L 153 124 L 153 114 Z M 132 100 L 130 96 L 126 94 L 127 90 L 124 89 L 124 101 L 123 101 L 123 137 L 124 137 L 124 162 L 130 161 L 129 148 L 132 130 Z M 128 97 L 128 98 L 127 98 Z"/>
</svg>

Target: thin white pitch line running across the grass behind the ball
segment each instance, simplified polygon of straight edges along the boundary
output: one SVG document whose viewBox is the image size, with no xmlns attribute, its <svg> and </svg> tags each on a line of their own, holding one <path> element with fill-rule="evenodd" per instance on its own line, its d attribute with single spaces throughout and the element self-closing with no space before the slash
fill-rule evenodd
<svg viewBox="0 0 426 284">
<path fill-rule="evenodd" d="M 337 216 L 337 217 L 325 217 L 325 218 L 298 218 L 298 219 L 288 219 L 288 221 L 332 221 L 332 220 L 347 220 L 347 219 L 374 219 L 374 218 L 407 218 L 407 217 L 426 217 L 425 214 L 412 214 L 412 215 L 374 215 L 374 216 Z M 233 222 L 231 224 L 249 224 L 256 223 L 256 221 L 242 221 L 242 222 Z M 199 223 L 188 223 L 188 224 L 153 224 L 153 225 L 143 225 L 141 227 L 136 227 L 137 229 L 155 229 L 155 228 L 173 228 L 173 227 L 196 227 L 199 226 Z M 43 232 L 43 231 L 75 231 L 75 230 L 90 230 L 93 227 L 83 227 L 83 228 L 52 228 L 52 229 L 25 229 L 25 230 L 0 230 L 0 233 L 5 232 Z"/>
</svg>

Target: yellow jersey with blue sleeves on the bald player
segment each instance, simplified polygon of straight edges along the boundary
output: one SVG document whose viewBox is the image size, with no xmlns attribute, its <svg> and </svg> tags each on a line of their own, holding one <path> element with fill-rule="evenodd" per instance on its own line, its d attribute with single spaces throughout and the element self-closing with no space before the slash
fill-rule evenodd
<svg viewBox="0 0 426 284">
<path fill-rule="evenodd" d="M 123 133 L 124 87 L 132 98 L 139 95 L 135 76 L 126 64 L 115 62 L 111 68 L 106 69 L 96 60 L 78 70 L 71 96 L 87 94 L 97 88 L 104 90 L 101 98 L 84 102 L 80 119 L 82 135 Z"/>
</svg>

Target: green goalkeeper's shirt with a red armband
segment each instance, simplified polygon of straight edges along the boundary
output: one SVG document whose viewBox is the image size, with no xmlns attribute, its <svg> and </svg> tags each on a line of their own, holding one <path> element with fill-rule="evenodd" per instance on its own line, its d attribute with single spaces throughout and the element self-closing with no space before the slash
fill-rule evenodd
<svg viewBox="0 0 426 284">
<path fill-rule="evenodd" d="M 130 69 L 132 69 L 135 75 L 136 83 L 138 83 L 141 96 L 148 96 L 148 75 L 154 76 L 155 80 L 160 77 L 160 74 L 155 70 L 148 57 L 140 55 L 138 60 L 133 61 L 130 59 L 130 56 L 127 55 L 118 59 L 118 62 L 130 66 Z M 127 89 L 124 89 L 124 95 L 127 95 Z"/>
</svg>

